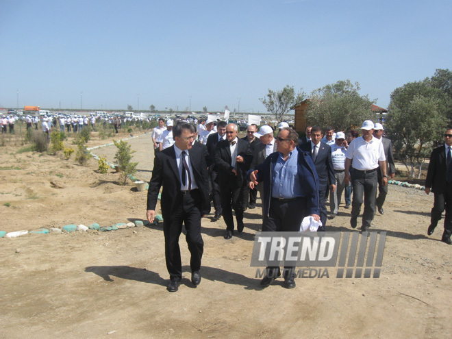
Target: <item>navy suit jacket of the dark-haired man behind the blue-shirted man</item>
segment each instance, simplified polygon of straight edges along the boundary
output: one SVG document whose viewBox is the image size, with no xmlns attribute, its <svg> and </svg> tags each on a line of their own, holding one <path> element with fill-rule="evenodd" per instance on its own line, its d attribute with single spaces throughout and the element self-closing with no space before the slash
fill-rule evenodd
<svg viewBox="0 0 452 339">
<path fill-rule="evenodd" d="M 310 153 L 312 157 L 311 142 L 305 142 L 300 147 L 303 151 Z M 320 142 L 316 161 L 314 161 L 318 175 L 319 190 L 328 190 L 329 185 L 336 184 L 334 178 L 333 160 L 331 158 L 331 147 Z"/>
</svg>

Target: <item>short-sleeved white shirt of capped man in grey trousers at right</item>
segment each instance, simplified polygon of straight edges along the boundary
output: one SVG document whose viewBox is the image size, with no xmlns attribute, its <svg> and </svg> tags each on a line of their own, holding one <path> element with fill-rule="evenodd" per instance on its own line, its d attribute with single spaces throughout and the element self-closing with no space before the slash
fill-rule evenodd
<svg viewBox="0 0 452 339">
<path fill-rule="evenodd" d="M 379 161 L 385 161 L 383 143 L 372 136 L 371 141 L 366 142 L 362 136 L 353 139 L 345 156 L 353 159 L 353 168 L 359 171 L 369 171 L 379 166 Z"/>
</svg>

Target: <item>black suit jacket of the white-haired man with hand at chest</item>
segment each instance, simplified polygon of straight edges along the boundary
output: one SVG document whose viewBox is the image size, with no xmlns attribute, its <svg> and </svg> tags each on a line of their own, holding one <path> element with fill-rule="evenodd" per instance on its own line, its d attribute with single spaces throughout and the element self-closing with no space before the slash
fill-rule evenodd
<svg viewBox="0 0 452 339">
<path fill-rule="evenodd" d="M 247 184 L 247 181 L 244 180 L 244 178 L 246 177 L 246 173 L 253 160 L 253 151 L 251 151 L 249 142 L 242 139 L 237 139 L 236 147 L 237 156 L 240 155 L 243 158 L 243 162 L 237 162 L 236 184 L 240 187 Z M 231 166 L 231 150 L 229 149 L 228 140 L 221 140 L 218 142 L 218 145 L 216 145 L 215 164 L 216 171 L 218 171 L 218 184 L 221 185 L 222 182 L 229 181 L 234 167 Z"/>
</svg>

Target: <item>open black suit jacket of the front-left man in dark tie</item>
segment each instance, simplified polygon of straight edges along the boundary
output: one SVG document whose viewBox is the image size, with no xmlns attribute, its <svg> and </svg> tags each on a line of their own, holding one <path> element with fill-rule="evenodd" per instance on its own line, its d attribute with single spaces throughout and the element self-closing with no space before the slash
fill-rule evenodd
<svg viewBox="0 0 452 339">
<path fill-rule="evenodd" d="M 209 181 L 205 153 L 201 147 L 192 147 L 188 150 L 190 165 L 194 181 L 201 192 L 201 215 L 210 213 Z M 193 178 L 192 178 L 193 179 Z M 162 190 L 162 216 L 164 220 L 171 220 L 176 208 L 182 203 L 181 180 L 177 168 L 174 147 L 168 147 L 155 154 L 152 178 L 147 191 L 147 210 L 155 210 L 160 187 Z"/>
</svg>

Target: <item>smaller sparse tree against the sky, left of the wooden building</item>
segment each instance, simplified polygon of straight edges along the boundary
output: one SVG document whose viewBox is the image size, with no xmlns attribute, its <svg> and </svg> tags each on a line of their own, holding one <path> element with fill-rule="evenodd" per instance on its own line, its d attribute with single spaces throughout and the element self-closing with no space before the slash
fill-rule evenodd
<svg viewBox="0 0 452 339">
<path fill-rule="evenodd" d="M 305 92 L 295 93 L 294 87 L 286 85 L 282 90 L 268 89 L 266 97 L 259 98 L 268 112 L 271 112 L 275 119 L 281 123 L 286 120 L 286 114 L 305 99 Z"/>
</svg>

